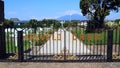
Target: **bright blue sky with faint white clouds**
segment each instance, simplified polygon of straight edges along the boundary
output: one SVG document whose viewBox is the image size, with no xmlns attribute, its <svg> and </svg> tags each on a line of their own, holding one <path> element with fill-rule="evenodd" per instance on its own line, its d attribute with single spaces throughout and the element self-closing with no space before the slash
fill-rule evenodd
<svg viewBox="0 0 120 68">
<path fill-rule="evenodd" d="M 56 19 L 64 15 L 80 14 L 80 0 L 4 0 L 5 18 Z M 111 12 L 106 19 L 120 18 L 120 12 Z"/>
</svg>

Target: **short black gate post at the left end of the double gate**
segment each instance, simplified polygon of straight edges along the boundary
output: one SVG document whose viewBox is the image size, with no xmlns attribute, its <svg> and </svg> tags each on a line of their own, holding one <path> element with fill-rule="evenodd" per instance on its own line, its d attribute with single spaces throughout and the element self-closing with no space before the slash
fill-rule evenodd
<svg viewBox="0 0 120 68">
<path fill-rule="evenodd" d="M 23 52 L 23 31 L 18 31 L 18 60 L 22 62 L 24 60 Z"/>
</svg>

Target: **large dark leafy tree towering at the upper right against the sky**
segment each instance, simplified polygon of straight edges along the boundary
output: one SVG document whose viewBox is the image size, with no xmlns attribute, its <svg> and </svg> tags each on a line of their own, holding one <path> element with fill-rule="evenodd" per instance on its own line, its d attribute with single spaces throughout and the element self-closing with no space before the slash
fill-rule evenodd
<svg viewBox="0 0 120 68">
<path fill-rule="evenodd" d="M 104 19 L 110 11 L 119 11 L 120 0 L 80 0 L 80 9 L 84 16 L 93 20 L 95 28 L 104 27 Z"/>
</svg>

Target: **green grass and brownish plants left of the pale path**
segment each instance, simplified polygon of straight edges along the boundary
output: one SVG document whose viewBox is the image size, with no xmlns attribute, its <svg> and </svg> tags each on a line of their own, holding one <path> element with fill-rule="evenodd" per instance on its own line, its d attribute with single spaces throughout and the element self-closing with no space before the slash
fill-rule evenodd
<svg viewBox="0 0 120 68">
<path fill-rule="evenodd" d="M 23 48 L 24 51 L 28 50 L 32 46 L 41 46 L 47 42 L 49 36 L 53 34 L 54 31 L 50 30 L 48 32 L 41 31 L 39 34 L 35 34 L 33 32 L 29 32 L 24 36 L 23 40 Z M 15 46 L 15 38 L 11 37 L 12 33 L 7 32 L 6 33 L 6 52 L 7 53 L 17 53 L 18 52 L 18 46 Z"/>
</svg>

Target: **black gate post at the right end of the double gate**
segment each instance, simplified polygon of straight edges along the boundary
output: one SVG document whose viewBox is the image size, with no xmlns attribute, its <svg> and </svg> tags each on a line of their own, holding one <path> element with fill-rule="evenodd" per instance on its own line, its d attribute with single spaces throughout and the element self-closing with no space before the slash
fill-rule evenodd
<svg viewBox="0 0 120 68">
<path fill-rule="evenodd" d="M 108 41 L 107 41 L 107 62 L 112 62 L 112 51 L 113 51 L 113 30 L 108 30 Z"/>
</svg>

